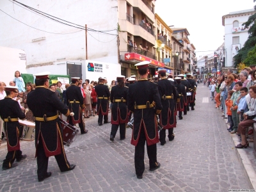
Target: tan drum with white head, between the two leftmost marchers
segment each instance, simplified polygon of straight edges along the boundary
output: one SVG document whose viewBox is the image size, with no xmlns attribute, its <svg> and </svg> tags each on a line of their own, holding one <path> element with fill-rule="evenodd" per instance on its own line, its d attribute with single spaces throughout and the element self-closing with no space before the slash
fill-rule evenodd
<svg viewBox="0 0 256 192">
<path fill-rule="evenodd" d="M 35 123 L 29 120 L 20 120 L 19 124 L 23 125 L 22 135 L 20 140 L 22 141 L 33 141 L 35 140 Z"/>
</svg>

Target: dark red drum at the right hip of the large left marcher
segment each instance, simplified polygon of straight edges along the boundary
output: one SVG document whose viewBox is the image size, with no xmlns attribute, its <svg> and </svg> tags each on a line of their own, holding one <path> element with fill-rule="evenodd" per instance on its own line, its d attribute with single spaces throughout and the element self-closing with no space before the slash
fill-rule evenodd
<svg viewBox="0 0 256 192">
<path fill-rule="evenodd" d="M 69 147 L 76 140 L 78 129 L 60 119 L 61 127 L 63 128 L 63 144 Z"/>
</svg>

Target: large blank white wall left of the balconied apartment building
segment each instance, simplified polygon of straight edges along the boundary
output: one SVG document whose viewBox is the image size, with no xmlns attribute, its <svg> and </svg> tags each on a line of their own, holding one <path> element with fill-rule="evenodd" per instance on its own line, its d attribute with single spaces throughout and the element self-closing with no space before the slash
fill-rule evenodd
<svg viewBox="0 0 256 192">
<path fill-rule="evenodd" d="M 117 28 L 117 1 L 20 0 L 20 2 L 81 26 L 87 24 L 88 28 L 96 30 L 111 30 Z M 24 49 L 27 54 L 27 65 L 55 62 L 60 58 L 65 58 L 65 60 L 85 59 L 84 30 L 45 19 L 10 1 L 0 1 L 0 7 L 1 10 L 15 19 L 29 26 L 33 26 L 34 28 L 52 33 L 70 33 L 67 35 L 56 35 L 38 31 L 29 28 L 1 12 L 0 45 Z M 99 60 L 104 60 L 109 63 L 118 63 L 116 36 L 102 35 L 102 33 L 92 31 L 88 31 L 88 33 L 90 33 L 88 34 L 88 59 L 99 58 Z M 117 34 L 116 31 L 109 31 L 108 33 Z M 45 40 L 32 42 L 33 39 L 42 37 L 44 37 Z M 95 40 L 95 38 L 97 40 Z"/>
</svg>

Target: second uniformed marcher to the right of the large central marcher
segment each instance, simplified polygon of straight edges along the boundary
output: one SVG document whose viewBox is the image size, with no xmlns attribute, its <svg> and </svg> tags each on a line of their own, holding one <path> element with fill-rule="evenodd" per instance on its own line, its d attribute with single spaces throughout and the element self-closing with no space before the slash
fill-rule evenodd
<svg viewBox="0 0 256 192">
<path fill-rule="evenodd" d="M 186 96 L 186 88 L 184 84 L 181 84 L 180 77 L 175 77 L 175 81 L 177 84 L 175 84 L 175 87 L 177 88 L 177 91 L 179 93 L 179 100 L 177 102 L 177 111 L 179 111 L 179 119 L 182 120 L 182 111 L 184 111 L 185 102 L 187 99 Z"/>
</svg>

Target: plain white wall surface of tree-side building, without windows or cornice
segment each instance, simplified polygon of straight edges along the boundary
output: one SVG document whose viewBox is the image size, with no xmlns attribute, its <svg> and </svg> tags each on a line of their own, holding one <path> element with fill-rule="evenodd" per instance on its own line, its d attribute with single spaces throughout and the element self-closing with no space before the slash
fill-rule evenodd
<svg viewBox="0 0 256 192">
<path fill-rule="evenodd" d="M 237 20 L 239 27 L 248 20 L 250 15 L 236 16 L 231 18 L 225 18 L 225 49 L 227 51 L 226 67 L 233 67 L 233 55 L 232 55 L 232 37 L 239 36 L 239 44 L 241 48 L 244 46 L 244 42 L 248 39 L 248 31 L 241 33 L 232 33 L 233 22 Z"/>
</svg>

